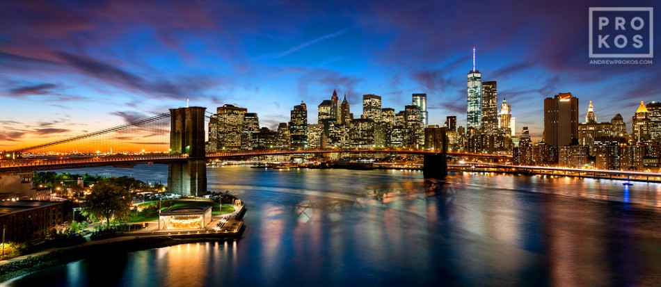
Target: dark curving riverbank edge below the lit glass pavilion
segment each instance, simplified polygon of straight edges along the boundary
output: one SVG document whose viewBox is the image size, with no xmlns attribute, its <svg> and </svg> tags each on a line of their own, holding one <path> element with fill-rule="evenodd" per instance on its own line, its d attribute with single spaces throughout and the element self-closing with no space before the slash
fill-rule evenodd
<svg viewBox="0 0 661 287">
<path fill-rule="evenodd" d="M 232 213 L 232 218 L 241 220 L 246 213 L 246 207 Z M 222 215 L 225 216 L 225 215 Z M 218 216 L 220 218 L 221 216 Z M 216 220 L 214 220 L 216 222 Z M 214 222 L 209 226 L 213 227 Z M 186 243 L 200 242 L 224 242 L 239 240 L 246 229 L 245 225 L 236 232 L 209 232 L 203 229 L 202 232 L 186 230 L 172 234 L 172 231 L 132 231 L 123 233 L 115 238 L 104 240 L 95 240 L 71 247 L 54 248 L 36 254 L 19 256 L 15 259 L 0 261 L 0 282 L 22 277 L 32 272 L 44 270 L 58 265 L 64 265 L 81 259 L 103 256 L 111 256 L 118 252 L 136 252 L 145 249 L 154 249 L 180 245 Z"/>
</svg>

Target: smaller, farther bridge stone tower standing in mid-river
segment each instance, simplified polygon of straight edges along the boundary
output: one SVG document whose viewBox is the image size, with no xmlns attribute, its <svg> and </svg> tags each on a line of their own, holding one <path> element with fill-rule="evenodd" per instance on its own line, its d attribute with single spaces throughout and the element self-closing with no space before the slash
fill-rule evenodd
<svg viewBox="0 0 661 287">
<path fill-rule="evenodd" d="M 425 179 L 444 179 L 447 176 L 447 136 L 445 128 L 424 129 L 424 149 L 438 151 L 438 154 L 425 154 L 422 174 Z"/>
</svg>

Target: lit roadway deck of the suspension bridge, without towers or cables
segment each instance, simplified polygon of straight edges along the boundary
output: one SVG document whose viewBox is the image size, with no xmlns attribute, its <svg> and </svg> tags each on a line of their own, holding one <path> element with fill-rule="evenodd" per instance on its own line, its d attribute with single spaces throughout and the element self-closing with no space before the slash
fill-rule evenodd
<svg viewBox="0 0 661 287">
<path fill-rule="evenodd" d="M 207 154 L 207 158 L 237 158 L 244 156 L 276 156 L 287 154 L 327 154 L 327 153 L 387 153 L 387 154 L 440 154 L 440 151 L 427 149 L 269 149 L 253 151 L 227 151 Z M 471 154 L 448 152 L 451 156 L 472 156 L 480 158 L 511 158 L 495 154 Z M 104 165 L 128 166 L 136 163 L 167 163 L 170 161 L 189 160 L 187 155 L 142 156 L 58 156 L 54 158 L 24 158 L 14 161 L 0 161 L 0 172 L 31 172 L 36 170 L 58 170 L 62 168 L 95 167 Z"/>
</svg>

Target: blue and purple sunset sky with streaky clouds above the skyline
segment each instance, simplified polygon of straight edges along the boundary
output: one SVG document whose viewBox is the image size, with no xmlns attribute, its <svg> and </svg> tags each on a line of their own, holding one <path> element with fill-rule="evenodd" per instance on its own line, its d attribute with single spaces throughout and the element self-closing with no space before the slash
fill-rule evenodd
<svg viewBox="0 0 661 287">
<path fill-rule="evenodd" d="M 472 48 L 516 133 L 543 133 L 543 99 L 571 92 L 584 121 L 660 101 L 660 63 L 591 65 L 590 7 L 658 1 L 4 1 L 0 150 L 165 113 L 237 104 L 273 129 L 304 101 L 308 122 L 337 90 L 404 110 L 427 93 L 429 123 L 466 122 Z M 660 23 L 661 21 L 656 21 Z M 658 24 L 651 26 L 658 28 Z M 657 37 L 660 38 L 661 36 Z M 658 40 L 654 47 L 660 47 Z"/>
</svg>

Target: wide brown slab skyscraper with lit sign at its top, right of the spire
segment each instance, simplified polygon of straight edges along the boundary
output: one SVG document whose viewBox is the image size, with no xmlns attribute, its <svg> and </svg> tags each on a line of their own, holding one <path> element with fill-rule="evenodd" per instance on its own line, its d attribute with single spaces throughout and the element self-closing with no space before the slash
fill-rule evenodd
<svg viewBox="0 0 661 287">
<path fill-rule="evenodd" d="M 561 92 L 544 99 L 544 142 L 559 147 L 578 139 L 578 98 Z"/>
</svg>

